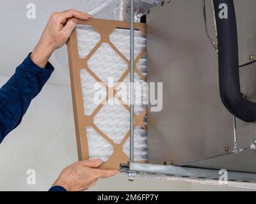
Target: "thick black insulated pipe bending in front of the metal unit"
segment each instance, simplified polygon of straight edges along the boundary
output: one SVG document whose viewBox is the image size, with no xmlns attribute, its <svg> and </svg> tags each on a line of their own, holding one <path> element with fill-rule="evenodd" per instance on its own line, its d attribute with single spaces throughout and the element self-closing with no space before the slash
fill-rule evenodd
<svg viewBox="0 0 256 204">
<path fill-rule="evenodd" d="M 243 98 L 239 81 L 236 12 L 233 0 L 213 0 L 218 30 L 220 96 L 227 110 L 245 122 L 255 122 L 256 104 Z M 220 18 L 227 4 L 228 18 Z M 220 6 L 220 8 L 219 8 Z"/>
</svg>

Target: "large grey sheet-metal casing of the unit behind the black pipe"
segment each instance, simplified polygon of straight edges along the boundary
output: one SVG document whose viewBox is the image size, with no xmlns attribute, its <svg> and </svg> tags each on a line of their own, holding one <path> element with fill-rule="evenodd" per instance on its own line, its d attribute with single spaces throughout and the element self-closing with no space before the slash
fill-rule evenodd
<svg viewBox="0 0 256 204">
<path fill-rule="evenodd" d="M 243 64 L 256 52 L 256 3 L 234 2 Z M 147 15 L 148 81 L 163 82 L 164 87 L 162 112 L 148 112 L 149 163 L 190 163 L 236 150 L 233 117 L 221 103 L 218 57 L 205 34 L 202 13 L 201 0 L 179 0 L 156 6 Z M 215 40 L 211 1 L 207 24 Z M 240 69 L 241 92 L 253 101 L 255 66 Z M 237 150 L 250 148 L 255 133 L 255 124 L 236 119 Z"/>
</svg>

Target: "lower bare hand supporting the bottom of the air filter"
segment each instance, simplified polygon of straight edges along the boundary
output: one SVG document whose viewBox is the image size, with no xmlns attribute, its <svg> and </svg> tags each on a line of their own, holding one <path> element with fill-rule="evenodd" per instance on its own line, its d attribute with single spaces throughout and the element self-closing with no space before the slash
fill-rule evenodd
<svg viewBox="0 0 256 204">
<path fill-rule="evenodd" d="M 84 191 L 95 186 L 98 179 L 108 179 L 118 173 L 117 170 L 97 169 L 101 164 L 100 159 L 71 164 L 61 172 L 60 177 L 52 186 L 62 186 L 67 191 Z"/>
</svg>

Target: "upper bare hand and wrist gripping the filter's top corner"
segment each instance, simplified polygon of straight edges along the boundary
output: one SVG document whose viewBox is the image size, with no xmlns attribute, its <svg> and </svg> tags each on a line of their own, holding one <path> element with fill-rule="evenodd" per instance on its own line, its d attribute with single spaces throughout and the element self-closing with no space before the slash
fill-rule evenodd
<svg viewBox="0 0 256 204">
<path fill-rule="evenodd" d="M 77 25 L 77 19 L 88 20 L 89 18 L 92 16 L 75 10 L 52 13 L 38 45 L 31 54 L 31 60 L 40 68 L 45 68 L 52 52 L 67 43 Z"/>
</svg>

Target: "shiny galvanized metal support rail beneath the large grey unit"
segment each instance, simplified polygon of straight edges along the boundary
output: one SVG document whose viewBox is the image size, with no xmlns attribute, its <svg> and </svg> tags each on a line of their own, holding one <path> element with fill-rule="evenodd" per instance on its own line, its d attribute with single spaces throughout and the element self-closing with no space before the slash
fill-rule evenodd
<svg viewBox="0 0 256 204">
<path fill-rule="evenodd" d="M 130 163 L 120 165 L 121 173 L 133 172 L 134 176 L 152 177 L 155 179 L 180 180 L 200 184 L 213 184 L 221 186 L 219 170 L 193 167 L 164 166 L 157 164 Z M 222 180 L 221 180 L 222 181 Z M 227 171 L 225 186 L 246 187 L 256 189 L 256 174 Z"/>
</svg>

